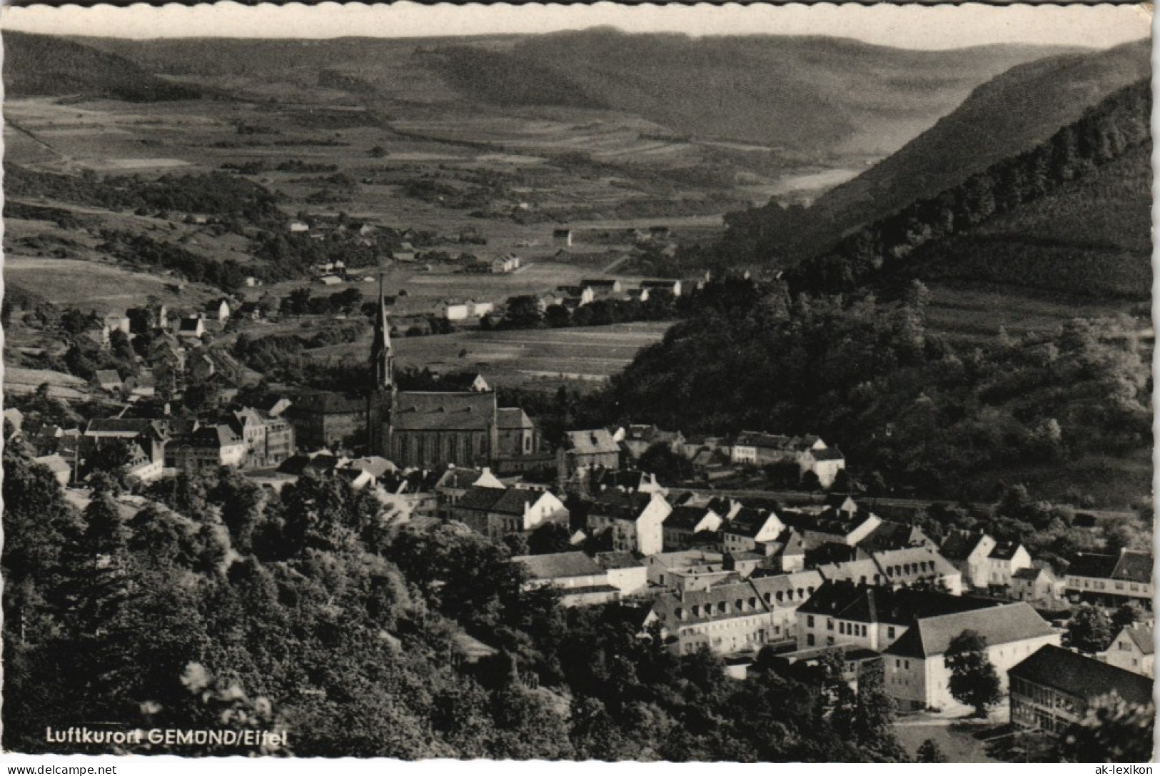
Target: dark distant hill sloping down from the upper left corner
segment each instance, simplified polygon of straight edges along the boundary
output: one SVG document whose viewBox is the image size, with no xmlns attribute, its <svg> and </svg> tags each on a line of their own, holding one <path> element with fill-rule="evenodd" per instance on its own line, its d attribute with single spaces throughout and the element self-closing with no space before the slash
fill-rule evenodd
<svg viewBox="0 0 1160 776">
<path fill-rule="evenodd" d="M 171 84 L 117 55 L 46 35 L 3 34 L 9 97 L 84 94 L 132 102 L 189 100 L 197 89 Z"/>
</svg>

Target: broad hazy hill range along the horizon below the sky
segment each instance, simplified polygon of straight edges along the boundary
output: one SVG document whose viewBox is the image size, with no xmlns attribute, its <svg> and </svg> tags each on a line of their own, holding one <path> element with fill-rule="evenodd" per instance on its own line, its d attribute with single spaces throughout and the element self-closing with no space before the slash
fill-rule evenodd
<svg viewBox="0 0 1160 776">
<path fill-rule="evenodd" d="M 690 38 L 592 29 L 537 36 L 90 43 L 153 73 L 317 84 L 357 79 L 408 104 L 610 109 L 807 161 L 878 158 L 979 84 L 1065 49 L 914 51 L 828 37 Z M 333 75 L 328 82 L 338 84 Z M 354 81 L 351 81 L 354 82 Z"/>
</svg>

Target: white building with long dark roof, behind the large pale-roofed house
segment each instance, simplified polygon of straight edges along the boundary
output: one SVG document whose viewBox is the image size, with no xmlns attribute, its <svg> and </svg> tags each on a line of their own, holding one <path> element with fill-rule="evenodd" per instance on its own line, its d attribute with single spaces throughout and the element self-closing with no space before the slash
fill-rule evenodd
<svg viewBox="0 0 1160 776">
<path fill-rule="evenodd" d="M 882 652 L 921 617 L 999 605 L 935 590 L 825 581 L 797 610 L 797 647 L 850 644 Z"/>
</svg>

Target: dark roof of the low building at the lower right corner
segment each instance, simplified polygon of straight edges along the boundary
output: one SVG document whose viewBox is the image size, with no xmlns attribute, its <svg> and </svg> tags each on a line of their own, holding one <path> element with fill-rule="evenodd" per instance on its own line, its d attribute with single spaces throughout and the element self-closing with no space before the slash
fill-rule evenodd
<svg viewBox="0 0 1160 776">
<path fill-rule="evenodd" d="M 1007 675 L 1060 690 L 1087 702 L 1115 691 L 1128 703 L 1152 703 L 1152 680 L 1147 676 L 1051 644 L 1039 647 L 1030 657 L 1012 666 Z"/>
</svg>

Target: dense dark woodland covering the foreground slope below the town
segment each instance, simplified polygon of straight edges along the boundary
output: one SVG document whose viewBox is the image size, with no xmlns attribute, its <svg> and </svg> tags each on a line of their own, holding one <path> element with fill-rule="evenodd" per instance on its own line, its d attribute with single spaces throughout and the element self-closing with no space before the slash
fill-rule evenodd
<svg viewBox="0 0 1160 776">
<path fill-rule="evenodd" d="M 285 730 L 253 753 L 297 756 L 905 760 L 880 681 L 763 660 L 730 680 L 640 638 L 638 610 L 561 609 L 506 544 L 399 524 L 339 479 L 179 476 L 130 514 L 108 478 L 79 510 L 19 441 L 3 456 L 9 750 L 74 750 L 45 725 L 103 719 Z M 464 632 L 498 653 L 457 657 Z"/>
</svg>

